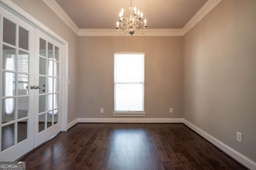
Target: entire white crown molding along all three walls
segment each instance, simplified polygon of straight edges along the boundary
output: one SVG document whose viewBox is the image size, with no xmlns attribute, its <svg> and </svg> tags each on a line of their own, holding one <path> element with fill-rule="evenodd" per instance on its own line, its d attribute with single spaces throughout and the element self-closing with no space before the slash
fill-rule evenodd
<svg viewBox="0 0 256 170">
<path fill-rule="evenodd" d="M 43 2 L 78 36 L 130 36 L 119 35 L 116 29 L 79 29 L 55 0 L 43 0 Z M 133 36 L 183 36 L 220 2 L 221 0 L 208 0 L 182 29 L 147 29 L 146 33 Z"/>
</svg>

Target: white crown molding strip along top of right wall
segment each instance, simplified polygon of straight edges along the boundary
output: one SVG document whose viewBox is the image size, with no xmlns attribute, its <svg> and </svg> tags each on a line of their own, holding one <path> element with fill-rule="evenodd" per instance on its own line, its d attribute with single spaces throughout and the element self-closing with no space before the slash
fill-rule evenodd
<svg viewBox="0 0 256 170">
<path fill-rule="evenodd" d="M 204 6 L 182 28 L 184 35 L 206 16 L 221 0 L 208 0 Z"/>
</svg>

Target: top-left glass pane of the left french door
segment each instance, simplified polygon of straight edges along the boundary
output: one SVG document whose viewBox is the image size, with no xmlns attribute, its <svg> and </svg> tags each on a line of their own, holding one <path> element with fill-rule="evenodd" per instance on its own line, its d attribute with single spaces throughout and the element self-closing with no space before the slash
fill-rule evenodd
<svg viewBox="0 0 256 170">
<path fill-rule="evenodd" d="M 6 18 L 3 20 L 3 41 L 16 45 L 16 24 Z"/>
</svg>

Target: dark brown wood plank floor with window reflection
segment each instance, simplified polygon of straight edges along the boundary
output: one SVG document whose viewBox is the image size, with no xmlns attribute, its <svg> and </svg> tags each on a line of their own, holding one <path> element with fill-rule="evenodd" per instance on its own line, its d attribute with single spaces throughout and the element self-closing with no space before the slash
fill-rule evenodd
<svg viewBox="0 0 256 170">
<path fill-rule="evenodd" d="M 246 169 L 182 123 L 78 123 L 19 161 L 36 170 Z"/>
</svg>

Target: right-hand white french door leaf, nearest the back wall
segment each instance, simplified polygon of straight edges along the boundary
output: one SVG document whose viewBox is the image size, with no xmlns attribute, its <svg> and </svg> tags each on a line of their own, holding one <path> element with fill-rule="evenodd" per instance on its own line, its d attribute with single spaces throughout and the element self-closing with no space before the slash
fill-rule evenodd
<svg viewBox="0 0 256 170">
<path fill-rule="evenodd" d="M 61 44 L 36 29 L 35 55 L 35 125 L 37 147 L 60 132 L 60 56 Z"/>
</svg>

